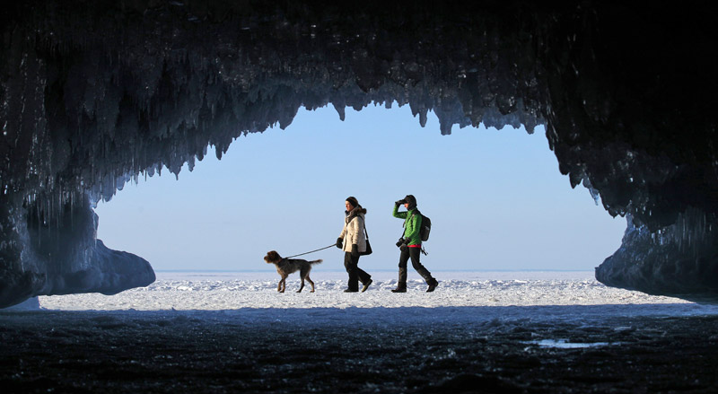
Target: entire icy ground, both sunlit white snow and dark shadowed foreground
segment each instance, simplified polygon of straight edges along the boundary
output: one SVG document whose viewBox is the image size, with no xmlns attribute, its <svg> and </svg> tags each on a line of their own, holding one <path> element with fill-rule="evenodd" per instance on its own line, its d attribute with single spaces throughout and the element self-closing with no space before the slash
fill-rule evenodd
<svg viewBox="0 0 718 394">
<path fill-rule="evenodd" d="M 412 274 L 414 276 L 412 276 Z M 0 311 L 3 392 L 708 393 L 718 306 L 613 289 L 591 272 L 159 273 L 113 296 Z"/>
</svg>

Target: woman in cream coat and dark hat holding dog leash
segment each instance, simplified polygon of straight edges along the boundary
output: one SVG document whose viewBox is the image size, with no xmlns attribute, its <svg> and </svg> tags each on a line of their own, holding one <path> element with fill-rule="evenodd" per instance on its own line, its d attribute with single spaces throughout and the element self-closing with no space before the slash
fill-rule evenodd
<svg viewBox="0 0 718 394">
<path fill-rule="evenodd" d="M 349 274 L 349 283 L 344 293 L 359 291 L 362 282 L 362 293 L 372 285 L 372 276 L 359 266 L 359 253 L 366 251 L 366 232 L 364 216 L 366 209 L 359 205 L 356 197 L 347 197 L 345 201 L 344 228 L 337 238 L 337 248 L 344 250 L 344 267 Z"/>
</svg>

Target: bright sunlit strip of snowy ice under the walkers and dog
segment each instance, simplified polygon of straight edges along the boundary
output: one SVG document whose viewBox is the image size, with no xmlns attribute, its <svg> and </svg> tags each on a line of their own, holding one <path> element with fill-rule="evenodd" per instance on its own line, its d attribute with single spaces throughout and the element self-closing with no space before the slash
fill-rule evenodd
<svg viewBox="0 0 718 394">
<path fill-rule="evenodd" d="M 412 276 L 412 274 L 414 274 Z M 316 292 L 309 284 L 302 293 L 299 276 L 287 279 L 286 293 L 277 293 L 275 272 L 160 272 L 157 281 L 113 296 L 98 293 L 39 297 L 40 307 L 60 311 L 217 311 L 238 309 L 398 308 L 484 306 L 644 305 L 655 310 L 670 305 L 678 313 L 713 313 L 718 307 L 677 298 L 607 287 L 591 272 L 434 272 L 440 285 L 425 293 L 425 283 L 410 273 L 408 292 L 391 293 L 395 272 L 373 272 L 365 293 L 343 293 L 346 273 L 312 272 Z"/>
</svg>

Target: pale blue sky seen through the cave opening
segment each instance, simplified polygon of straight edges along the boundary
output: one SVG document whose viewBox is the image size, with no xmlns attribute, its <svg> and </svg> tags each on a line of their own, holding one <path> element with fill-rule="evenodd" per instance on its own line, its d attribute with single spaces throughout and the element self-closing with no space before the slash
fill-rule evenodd
<svg viewBox="0 0 718 394">
<path fill-rule="evenodd" d="M 431 217 L 432 271 L 592 270 L 620 245 L 626 220 L 572 189 L 543 127 L 454 127 L 441 136 L 408 106 L 300 109 L 285 130 L 238 138 L 218 161 L 212 150 L 176 180 L 169 171 L 100 203 L 98 238 L 146 258 L 156 270 L 274 270 L 262 259 L 333 244 L 344 201 L 367 210 L 374 253 L 359 266 L 394 270 L 402 221 L 393 202 L 413 194 Z M 315 270 L 344 269 L 343 252 L 322 250 Z"/>
</svg>

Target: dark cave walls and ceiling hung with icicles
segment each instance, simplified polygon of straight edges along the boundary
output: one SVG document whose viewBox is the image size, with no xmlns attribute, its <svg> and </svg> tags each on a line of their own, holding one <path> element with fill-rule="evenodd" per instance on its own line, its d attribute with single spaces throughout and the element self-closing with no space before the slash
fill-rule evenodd
<svg viewBox="0 0 718 394">
<path fill-rule="evenodd" d="M 708 3 L 25 1 L 0 16 L 0 307 L 149 285 L 92 206 L 301 107 L 545 125 L 628 218 L 600 282 L 718 302 L 718 46 Z M 451 136 L 449 136 L 451 137 Z M 250 170 L 248 170 L 250 171 Z"/>
</svg>

